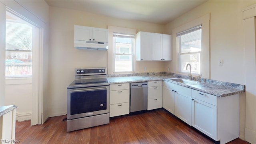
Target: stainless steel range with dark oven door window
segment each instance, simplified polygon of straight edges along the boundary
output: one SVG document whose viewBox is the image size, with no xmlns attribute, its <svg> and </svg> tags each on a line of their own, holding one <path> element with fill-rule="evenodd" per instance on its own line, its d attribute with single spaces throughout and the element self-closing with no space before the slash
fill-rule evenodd
<svg viewBox="0 0 256 144">
<path fill-rule="evenodd" d="M 109 123 L 106 68 L 75 68 L 68 86 L 67 132 Z"/>
</svg>

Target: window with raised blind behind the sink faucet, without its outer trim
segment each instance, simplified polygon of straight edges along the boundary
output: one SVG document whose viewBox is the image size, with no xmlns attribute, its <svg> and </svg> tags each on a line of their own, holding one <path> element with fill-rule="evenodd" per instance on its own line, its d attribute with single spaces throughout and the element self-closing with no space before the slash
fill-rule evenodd
<svg viewBox="0 0 256 144">
<path fill-rule="evenodd" d="M 186 70 L 186 66 L 190 64 L 191 73 L 201 74 L 201 35 L 201 25 L 177 33 L 179 72 L 189 72 L 190 69 Z"/>
</svg>

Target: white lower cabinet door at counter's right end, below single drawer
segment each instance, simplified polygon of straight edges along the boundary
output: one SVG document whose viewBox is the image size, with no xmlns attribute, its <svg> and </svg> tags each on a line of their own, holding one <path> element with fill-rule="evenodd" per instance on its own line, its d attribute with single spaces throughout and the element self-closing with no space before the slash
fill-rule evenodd
<svg viewBox="0 0 256 144">
<path fill-rule="evenodd" d="M 217 107 L 192 97 L 191 126 L 217 140 Z"/>
</svg>

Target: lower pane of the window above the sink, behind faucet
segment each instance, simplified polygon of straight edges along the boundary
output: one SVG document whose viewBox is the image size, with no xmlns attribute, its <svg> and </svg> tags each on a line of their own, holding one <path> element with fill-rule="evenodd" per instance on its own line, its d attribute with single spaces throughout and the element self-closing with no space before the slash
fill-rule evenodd
<svg viewBox="0 0 256 144">
<path fill-rule="evenodd" d="M 191 65 L 191 72 L 200 74 L 200 54 L 181 54 L 180 55 L 180 72 L 189 72 L 186 70 L 187 64 Z"/>
</svg>

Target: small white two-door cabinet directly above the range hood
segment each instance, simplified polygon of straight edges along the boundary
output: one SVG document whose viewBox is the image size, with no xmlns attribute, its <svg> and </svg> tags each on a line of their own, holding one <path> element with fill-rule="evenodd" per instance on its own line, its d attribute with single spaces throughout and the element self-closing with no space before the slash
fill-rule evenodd
<svg viewBox="0 0 256 144">
<path fill-rule="evenodd" d="M 108 29 L 75 25 L 74 40 L 108 42 Z"/>
</svg>

